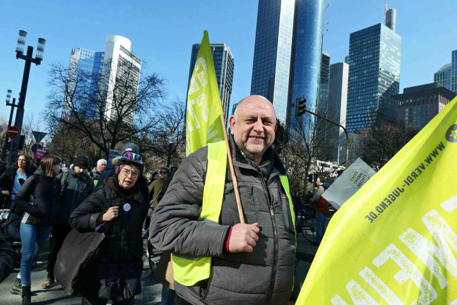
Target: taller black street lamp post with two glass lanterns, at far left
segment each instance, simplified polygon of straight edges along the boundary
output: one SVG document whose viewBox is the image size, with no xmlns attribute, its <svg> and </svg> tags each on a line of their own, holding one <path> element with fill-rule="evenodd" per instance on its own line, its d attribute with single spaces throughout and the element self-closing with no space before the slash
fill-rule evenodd
<svg viewBox="0 0 457 305">
<path fill-rule="evenodd" d="M 30 75 L 30 66 L 32 63 L 35 65 L 40 65 L 41 61 L 43 60 L 43 53 L 44 53 L 44 46 L 46 44 L 46 40 L 43 38 L 38 38 L 38 45 L 37 45 L 37 52 L 36 57 L 33 58 L 33 47 L 27 46 L 27 53 L 24 55 L 24 47 L 25 47 L 25 38 L 27 37 L 26 31 L 19 31 L 19 38 L 17 38 L 17 45 L 16 45 L 16 59 L 20 58 L 25 60 L 24 65 L 24 74 L 22 75 L 22 85 L 21 85 L 21 92 L 19 94 L 19 103 L 17 105 L 16 111 L 16 118 L 14 121 L 14 125 L 19 129 L 19 135 L 22 130 L 22 120 L 24 118 L 24 104 L 25 104 L 25 96 L 27 94 L 27 85 L 28 85 L 28 78 Z M 11 156 L 17 154 L 17 147 L 19 145 L 19 138 L 15 137 L 14 142 L 16 143 L 15 147 L 11 150 Z"/>
</svg>

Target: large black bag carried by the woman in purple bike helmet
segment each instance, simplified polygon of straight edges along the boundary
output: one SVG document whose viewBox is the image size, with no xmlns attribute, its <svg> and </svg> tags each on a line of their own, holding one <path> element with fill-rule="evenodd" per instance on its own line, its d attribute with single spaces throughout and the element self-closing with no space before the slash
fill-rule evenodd
<svg viewBox="0 0 457 305">
<path fill-rule="evenodd" d="M 99 193 L 95 193 L 97 196 Z M 98 199 L 107 202 L 99 194 Z M 100 224 L 93 232 L 78 232 L 75 228 L 70 231 L 57 254 L 54 276 L 69 295 L 75 294 L 79 273 L 97 251 L 100 243 L 105 239 L 109 222 Z"/>
</svg>

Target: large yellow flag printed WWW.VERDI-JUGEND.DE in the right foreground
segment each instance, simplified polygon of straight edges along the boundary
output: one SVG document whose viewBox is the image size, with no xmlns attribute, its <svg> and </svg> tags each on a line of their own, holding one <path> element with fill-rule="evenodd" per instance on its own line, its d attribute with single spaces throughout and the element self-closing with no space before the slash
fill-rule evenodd
<svg viewBox="0 0 457 305">
<path fill-rule="evenodd" d="M 297 304 L 457 305 L 457 98 L 331 219 Z"/>
</svg>

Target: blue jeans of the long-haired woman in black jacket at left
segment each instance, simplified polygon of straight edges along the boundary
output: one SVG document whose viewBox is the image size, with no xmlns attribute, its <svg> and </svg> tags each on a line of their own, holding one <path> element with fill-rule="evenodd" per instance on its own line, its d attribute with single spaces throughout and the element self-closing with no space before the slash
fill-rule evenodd
<svg viewBox="0 0 457 305">
<path fill-rule="evenodd" d="M 35 259 L 35 251 L 37 247 L 41 247 L 48 239 L 50 231 L 50 226 L 38 226 L 21 222 L 22 257 L 20 273 L 22 286 L 30 286 L 32 284 L 30 275 L 32 273 L 33 260 Z"/>
</svg>

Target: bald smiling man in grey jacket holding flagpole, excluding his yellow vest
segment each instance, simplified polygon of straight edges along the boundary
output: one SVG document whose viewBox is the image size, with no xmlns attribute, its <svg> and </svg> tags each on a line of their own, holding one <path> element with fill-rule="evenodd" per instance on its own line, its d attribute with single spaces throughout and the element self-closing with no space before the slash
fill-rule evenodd
<svg viewBox="0 0 457 305">
<path fill-rule="evenodd" d="M 175 304 L 287 304 L 294 286 L 295 230 L 279 178 L 286 170 L 271 147 L 277 128 L 273 105 L 261 96 L 247 97 L 229 123 L 246 223 L 239 220 L 229 167 L 219 222 L 199 219 L 206 146 L 189 155 L 175 173 L 152 215 L 151 242 L 177 257 L 211 257 L 207 279 L 192 286 L 174 281 Z"/>
</svg>

